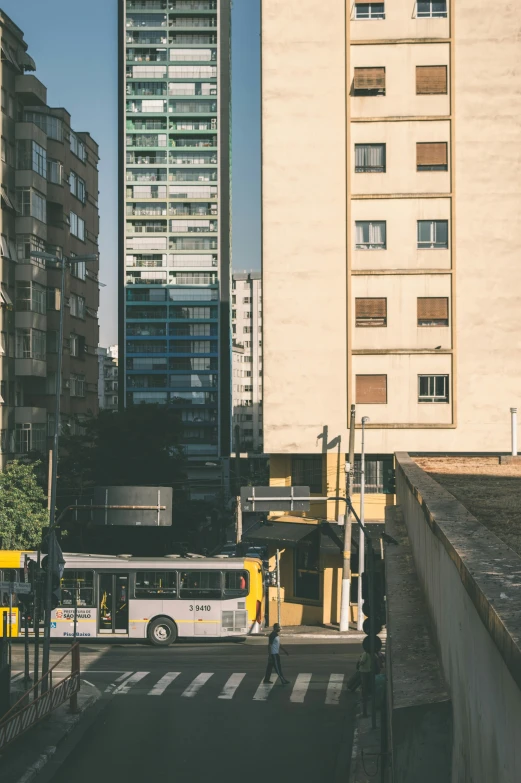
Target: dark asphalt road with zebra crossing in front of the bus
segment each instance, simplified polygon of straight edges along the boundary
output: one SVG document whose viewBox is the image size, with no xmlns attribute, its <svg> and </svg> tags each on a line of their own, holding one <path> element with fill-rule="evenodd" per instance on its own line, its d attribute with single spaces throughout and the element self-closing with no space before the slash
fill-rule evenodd
<svg viewBox="0 0 521 783">
<path fill-rule="evenodd" d="M 86 646 L 102 696 L 39 783 L 347 783 L 360 642 L 282 641 L 290 684 L 271 688 L 264 639 Z"/>
</svg>

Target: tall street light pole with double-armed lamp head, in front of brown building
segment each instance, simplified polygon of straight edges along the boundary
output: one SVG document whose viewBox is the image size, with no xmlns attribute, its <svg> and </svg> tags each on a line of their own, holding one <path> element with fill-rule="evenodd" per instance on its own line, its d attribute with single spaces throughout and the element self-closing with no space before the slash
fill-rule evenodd
<svg viewBox="0 0 521 783">
<path fill-rule="evenodd" d="M 49 671 L 49 657 L 51 648 L 51 612 L 52 612 L 52 577 L 56 560 L 56 487 L 58 479 L 58 445 L 60 437 L 60 402 L 61 402 L 61 379 L 62 379 L 62 365 L 63 365 L 63 330 L 64 330 L 64 312 L 65 312 L 65 268 L 67 265 L 67 259 L 65 257 L 59 258 L 51 253 L 40 253 L 33 251 L 31 256 L 35 258 L 42 258 L 44 261 L 53 262 L 56 266 L 61 268 L 61 280 L 60 280 L 60 320 L 58 330 L 58 357 L 56 365 L 56 387 L 55 387 L 55 400 L 54 400 L 54 432 L 53 432 L 53 445 L 52 445 L 52 470 L 51 473 L 51 492 L 49 499 L 49 543 L 48 543 L 48 557 L 47 557 L 47 575 L 45 579 L 45 591 L 44 591 L 44 629 L 43 629 L 43 648 L 42 648 L 42 676 L 45 676 Z M 97 261 L 98 255 L 86 255 L 86 256 L 74 256 L 74 262 L 89 262 Z M 47 689 L 47 682 L 44 681 L 43 688 Z"/>
</svg>

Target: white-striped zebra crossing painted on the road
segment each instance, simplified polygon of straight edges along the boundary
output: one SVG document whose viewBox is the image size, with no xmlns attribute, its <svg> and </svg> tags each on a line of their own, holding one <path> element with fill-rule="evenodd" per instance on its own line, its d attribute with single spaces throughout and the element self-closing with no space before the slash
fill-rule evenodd
<svg viewBox="0 0 521 783">
<path fill-rule="evenodd" d="M 166 672 L 159 679 L 151 672 L 122 672 L 105 688 L 106 696 L 146 695 L 151 697 L 176 695 L 183 699 L 195 699 L 209 695 L 229 701 L 238 694 L 251 697 L 255 702 L 266 702 L 273 698 L 275 690 L 284 690 L 294 704 L 304 704 L 310 693 L 318 695 L 328 706 L 340 704 L 342 693 L 346 690 L 344 674 L 313 675 L 310 672 L 292 677 L 289 685 L 282 686 L 273 675 L 271 683 L 258 681 L 258 675 L 246 672 L 234 672 L 221 682 L 221 673 L 201 672 L 183 677 L 182 672 Z"/>
</svg>

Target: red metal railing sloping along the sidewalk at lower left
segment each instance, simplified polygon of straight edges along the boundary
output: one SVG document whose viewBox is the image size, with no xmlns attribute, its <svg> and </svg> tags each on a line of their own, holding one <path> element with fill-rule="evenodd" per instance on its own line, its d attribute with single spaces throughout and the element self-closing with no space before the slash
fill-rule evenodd
<svg viewBox="0 0 521 783">
<path fill-rule="evenodd" d="M 71 656 L 71 673 L 53 683 L 53 671 L 68 655 Z M 43 693 L 38 695 L 40 686 Z M 77 712 L 79 690 L 80 646 L 76 642 L 4 715 L 0 722 L 0 751 L 67 700 L 71 712 Z"/>
</svg>

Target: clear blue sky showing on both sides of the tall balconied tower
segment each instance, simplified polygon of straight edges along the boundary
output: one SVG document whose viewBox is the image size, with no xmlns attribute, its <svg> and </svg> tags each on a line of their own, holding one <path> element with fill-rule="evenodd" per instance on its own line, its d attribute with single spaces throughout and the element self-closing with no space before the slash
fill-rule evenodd
<svg viewBox="0 0 521 783">
<path fill-rule="evenodd" d="M 260 267 L 260 0 L 233 0 L 233 265 Z M 117 342 L 117 2 L 0 0 L 51 106 L 100 146 L 100 343 Z"/>
</svg>

